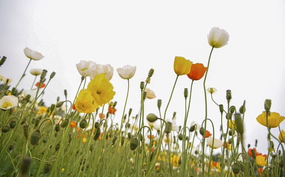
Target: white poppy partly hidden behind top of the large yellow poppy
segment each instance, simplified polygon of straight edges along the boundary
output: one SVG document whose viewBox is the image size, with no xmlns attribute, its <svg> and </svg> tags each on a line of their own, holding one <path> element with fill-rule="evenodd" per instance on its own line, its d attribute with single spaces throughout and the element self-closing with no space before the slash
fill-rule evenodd
<svg viewBox="0 0 285 177">
<path fill-rule="evenodd" d="M 110 64 L 97 64 L 91 69 L 90 79 L 93 80 L 96 75 L 101 73 L 105 74 L 105 77 L 110 81 L 113 77 L 114 68 Z"/>
</svg>

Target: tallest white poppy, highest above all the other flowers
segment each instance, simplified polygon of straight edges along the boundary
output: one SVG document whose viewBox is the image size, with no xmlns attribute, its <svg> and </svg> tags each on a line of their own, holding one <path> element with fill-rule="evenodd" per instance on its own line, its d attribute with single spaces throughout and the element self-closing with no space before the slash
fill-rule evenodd
<svg viewBox="0 0 285 177">
<path fill-rule="evenodd" d="M 228 44 L 230 35 L 225 29 L 214 27 L 208 34 L 208 43 L 214 48 L 220 48 Z"/>
</svg>

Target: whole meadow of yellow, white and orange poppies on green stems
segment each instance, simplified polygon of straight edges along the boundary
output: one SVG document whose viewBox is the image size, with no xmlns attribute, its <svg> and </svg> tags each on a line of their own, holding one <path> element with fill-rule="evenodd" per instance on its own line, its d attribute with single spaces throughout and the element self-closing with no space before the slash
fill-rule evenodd
<svg viewBox="0 0 285 177">
<path fill-rule="evenodd" d="M 0 177 L 285 177 L 285 131 L 280 127 L 285 117 L 271 111 L 271 100 L 266 99 L 264 111 L 256 120 L 267 128 L 268 151 L 260 153 L 257 145 L 245 145 L 246 101 L 240 107 L 231 105 L 232 93 L 227 90 L 227 104 L 218 104 L 212 97 L 216 89 L 206 88 L 212 51 L 227 45 L 229 34 L 214 27 L 207 37 L 211 46 L 208 62 L 204 65 L 175 57 L 177 77 L 172 92 L 168 100 L 157 100 L 153 113 L 145 113 L 144 104 L 156 97 L 147 88 L 155 69 L 140 82 L 139 98 L 129 97 L 136 66 L 116 69 L 122 80 L 128 81 L 126 100 L 118 100 L 125 107 L 117 110 L 113 98 L 122 93 L 115 92 L 112 85 L 114 68 L 87 60 L 76 64 L 81 75 L 76 97 L 67 100 L 65 90 L 66 99 L 58 97 L 56 103 L 46 105 L 40 96 L 55 72 L 48 76 L 45 69 L 30 69 L 35 78 L 31 88 L 18 88 L 30 62 L 44 58 L 25 48 L 29 61 L 17 85 L 12 87 L 10 78 L 0 77 Z M 0 66 L 6 59 L 1 58 Z M 186 77 L 183 75 L 192 82 L 189 90 L 184 89 L 185 116 L 178 125 L 176 112 L 167 109 L 178 78 Z M 190 122 L 192 85 L 203 78 L 205 96 L 201 99 L 205 99 L 205 107 L 201 110 L 205 110 L 205 118 Z M 209 96 L 211 100 L 207 100 Z M 126 107 L 129 99 L 140 100 L 138 114 Z M 220 124 L 208 118 L 209 101 L 220 111 L 216 115 L 221 118 Z M 165 110 L 160 109 L 162 104 L 167 105 Z M 120 123 L 113 122 L 115 116 Z M 220 127 L 220 133 L 214 132 L 214 126 Z M 279 129 L 280 134 L 272 134 L 272 128 Z M 213 149 L 220 152 L 214 154 Z"/>
</svg>

